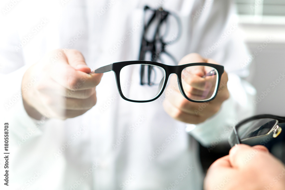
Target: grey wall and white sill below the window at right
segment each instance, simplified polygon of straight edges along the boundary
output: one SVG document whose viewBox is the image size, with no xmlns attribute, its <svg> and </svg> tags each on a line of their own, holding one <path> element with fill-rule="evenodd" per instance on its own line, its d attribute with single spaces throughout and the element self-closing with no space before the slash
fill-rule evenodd
<svg viewBox="0 0 285 190">
<path fill-rule="evenodd" d="M 257 114 L 285 116 L 285 76 L 282 76 L 285 74 L 285 25 L 281 22 L 262 25 L 247 23 L 241 24 L 241 28 L 249 50 L 258 54 L 253 59 L 249 77 L 257 96 L 263 98 L 256 104 Z M 273 40 L 267 44 L 266 39 L 270 36 Z M 264 48 L 260 46 L 263 43 L 267 44 Z M 274 84 L 274 81 L 279 83 Z"/>
</svg>

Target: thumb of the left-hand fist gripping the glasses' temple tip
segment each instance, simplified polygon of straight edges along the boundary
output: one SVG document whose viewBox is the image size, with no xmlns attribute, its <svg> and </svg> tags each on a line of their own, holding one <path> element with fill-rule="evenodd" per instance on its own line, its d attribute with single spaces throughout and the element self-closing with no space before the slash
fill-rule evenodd
<svg viewBox="0 0 285 190">
<path fill-rule="evenodd" d="M 68 64 L 75 70 L 79 70 L 85 73 L 91 72 L 91 69 L 86 65 L 85 59 L 82 53 L 75 49 L 69 49 L 65 52 Z"/>
</svg>

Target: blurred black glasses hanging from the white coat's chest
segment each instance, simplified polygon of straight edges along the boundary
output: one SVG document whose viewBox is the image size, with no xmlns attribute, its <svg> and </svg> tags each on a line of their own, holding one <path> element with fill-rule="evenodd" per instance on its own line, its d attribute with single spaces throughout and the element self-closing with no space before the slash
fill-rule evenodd
<svg viewBox="0 0 285 190">
<path fill-rule="evenodd" d="M 170 20 L 176 21 L 177 25 L 172 25 L 170 27 Z M 162 7 L 153 9 L 145 6 L 143 23 L 144 27 L 139 60 L 150 60 L 163 63 L 164 58 L 170 58 L 170 60 L 177 65 L 178 62 L 174 56 L 166 51 L 166 46 L 179 40 L 182 32 L 180 18 L 175 13 L 167 11 Z M 149 73 L 152 69 L 151 65 L 141 67 L 141 85 L 151 85 Z M 145 72 L 147 74 L 145 74 Z"/>
</svg>

